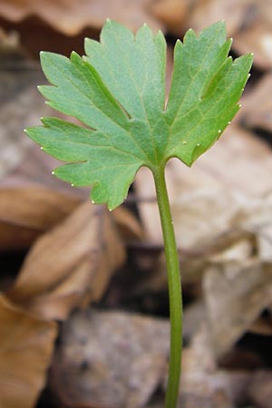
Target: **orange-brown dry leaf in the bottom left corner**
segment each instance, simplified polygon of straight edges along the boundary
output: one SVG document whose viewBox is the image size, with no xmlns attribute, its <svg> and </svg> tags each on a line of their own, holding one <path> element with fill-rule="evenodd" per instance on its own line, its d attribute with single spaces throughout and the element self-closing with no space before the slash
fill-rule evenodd
<svg viewBox="0 0 272 408">
<path fill-rule="evenodd" d="M 0 406 L 33 408 L 51 363 L 57 325 L 0 296 Z"/>
</svg>

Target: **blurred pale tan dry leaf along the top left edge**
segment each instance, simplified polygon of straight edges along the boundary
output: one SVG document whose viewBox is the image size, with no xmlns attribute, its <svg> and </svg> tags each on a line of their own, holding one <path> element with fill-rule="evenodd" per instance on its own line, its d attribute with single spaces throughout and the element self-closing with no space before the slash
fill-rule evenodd
<svg viewBox="0 0 272 408">
<path fill-rule="evenodd" d="M 0 15 L 19 22 L 35 15 L 67 35 L 80 33 L 91 26 L 100 29 L 106 18 L 112 18 L 136 30 L 143 23 L 159 28 L 159 23 L 147 11 L 151 0 L 2 0 Z"/>
</svg>

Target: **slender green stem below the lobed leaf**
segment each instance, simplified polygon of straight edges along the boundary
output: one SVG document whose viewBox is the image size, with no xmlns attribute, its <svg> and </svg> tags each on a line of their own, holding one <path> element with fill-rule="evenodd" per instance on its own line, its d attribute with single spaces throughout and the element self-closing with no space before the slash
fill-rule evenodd
<svg viewBox="0 0 272 408">
<path fill-rule="evenodd" d="M 164 251 L 168 272 L 170 298 L 170 364 L 165 408 L 177 406 L 180 385 L 180 361 L 182 351 L 182 297 L 180 262 L 170 213 L 164 168 L 153 170 L 157 200 L 160 210 Z"/>
</svg>

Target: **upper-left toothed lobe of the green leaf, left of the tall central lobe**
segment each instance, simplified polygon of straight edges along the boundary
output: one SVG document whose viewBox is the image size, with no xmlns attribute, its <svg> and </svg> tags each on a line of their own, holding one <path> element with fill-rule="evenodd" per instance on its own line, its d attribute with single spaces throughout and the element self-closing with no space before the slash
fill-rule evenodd
<svg viewBox="0 0 272 408">
<path fill-rule="evenodd" d="M 69 60 L 56 53 L 41 53 L 41 62 L 45 76 L 54 86 L 42 86 L 39 90 L 54 109 L 97 130 L 129 128 L 128 116 L 99 74 L 78 54 L 72 53 Z"/>
</svg>

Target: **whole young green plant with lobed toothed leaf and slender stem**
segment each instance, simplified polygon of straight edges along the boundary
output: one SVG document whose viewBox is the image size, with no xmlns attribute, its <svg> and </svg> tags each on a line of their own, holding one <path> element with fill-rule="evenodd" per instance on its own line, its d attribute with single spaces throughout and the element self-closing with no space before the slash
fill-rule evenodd
<svg viewBox="0 0 272 408">
<path fill-rule="evenodd" d="M 28 136 L 56 159 L 53 174 L 72 186 L 92 186 L 92 203 L 110 210 L 126 198 L 137 171 L 154 178 L 170 294 L 170 372 L 166 408 L 175 408 L 180 383 L 182 301 L 180 266 L 164 170 L 179 158 L 190 166 L 219 139 L 240 105 L 252 54 L 228 56 L 224 22 L 177 41 L 169 101 L 165 102 L 166 42 L 144 24 L 136 35 L 110 20 L 100 43 L 86 39 L 81 57 L 41 53 L 53 86 L 39 91 L 55 110 L 83 123 L 44 118 Z"/>
</svg>

